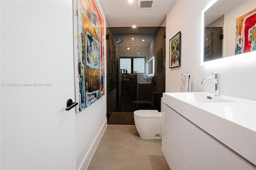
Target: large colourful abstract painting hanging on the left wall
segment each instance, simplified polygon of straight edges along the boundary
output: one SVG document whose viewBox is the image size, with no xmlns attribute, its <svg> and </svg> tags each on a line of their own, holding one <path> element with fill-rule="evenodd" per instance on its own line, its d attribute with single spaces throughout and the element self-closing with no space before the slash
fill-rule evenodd
<svg viewBox="0 0 256 170">
<path fill-rule="evenodd" d="M 74 1 L 78 111 L 100 99 L 104 88 L 104 19 L 95 0 Z"/>
</svg>

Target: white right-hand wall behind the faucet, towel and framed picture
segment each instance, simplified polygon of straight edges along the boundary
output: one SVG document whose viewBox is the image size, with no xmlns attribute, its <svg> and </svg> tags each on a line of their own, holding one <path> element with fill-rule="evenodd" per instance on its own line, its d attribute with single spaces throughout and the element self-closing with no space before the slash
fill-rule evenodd
<svg viewBox="0 0 256 170">
<path fill-rule="evenodd" d="M 204 85 L 201 85 L 201 81 L 216 72 L 221 74 L 222 95 L 256 100 L 255 52 L 244 54 L 250 56 L 227 57 L 210 65 L 201 65 L 201 11 L 209 3 L 176 1 L 166 16 L 166 47 L 169 47 L 169 40 L 181 31 L 180 67 L 169 68 L 169 48 L 166 48 L 166 92 L 179 92 L 181 74 L 190 73 L 192 91 L 214 93 L 215 85 L 212 81 Z"/>
</svg>

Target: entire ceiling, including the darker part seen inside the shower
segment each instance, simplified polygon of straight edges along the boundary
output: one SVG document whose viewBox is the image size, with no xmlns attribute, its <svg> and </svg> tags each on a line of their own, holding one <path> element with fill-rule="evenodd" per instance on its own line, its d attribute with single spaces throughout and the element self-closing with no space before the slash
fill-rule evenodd
<svg viewBox="0 0 256 170">
<path fill-rule="evenodd" d="M 153 0 L 150 9 L 138 9 L 150 0 L 99 0 L 106 14 L 106 26 L 114 38 L 120 38 L 120 49 L 128 46 L 148 46 L 174 0 Z M 146 2 L 147 3 L 147 2 Z M 136 28 L 132 28 L 136 25 Z M 134 40 L 130 42 L 131 38 Z M 145 41 L 142 42 L 142 39 Z M 115 39 L 116 41 L 118 39 Z M 132 49 L 132 48 L 131 48 Z"/>
</svg>

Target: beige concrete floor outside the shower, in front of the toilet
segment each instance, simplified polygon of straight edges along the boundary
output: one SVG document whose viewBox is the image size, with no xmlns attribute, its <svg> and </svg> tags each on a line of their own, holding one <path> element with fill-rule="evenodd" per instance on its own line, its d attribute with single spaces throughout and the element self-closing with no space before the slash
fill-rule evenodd
<svg viewBox="0 0 256 170">
<path fill-rule="evenodd" d="M 84 170 L 86 167 L 82 167 Z M 170 170 L 161 140 L 139 137 L 135 125 L 108 125 L 88 170 Z"/>
</svg>

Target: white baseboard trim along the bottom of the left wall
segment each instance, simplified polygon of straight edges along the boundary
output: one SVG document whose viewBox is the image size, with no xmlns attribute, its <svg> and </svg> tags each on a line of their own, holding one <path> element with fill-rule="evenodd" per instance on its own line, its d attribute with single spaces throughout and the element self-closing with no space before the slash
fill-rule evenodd
<svg viewBox="0 0 256 170">
<path fill-rule="evenodd" d="M 107 124 L 107 120 L 104 122 L 104 124 L 102 125 L 100 131 L 98 132 L 98 135 L 97 137 L 94 139 L 94 142 L 92 143 L 92 146 L 90 147 L 90 150 L 87 152 L 86 156 L 84 157 L 84 160 L 82 161 L 82 163 L 80 164 L 78 170 L 81 170 L 81 168 L 83 167 L 86 167 L 85 169 L 88 168 L 91 160 L 92 160 L 92 157 L 100 143 L 100 140 L 107 128 L 108 124 Z"/>
</svg>

